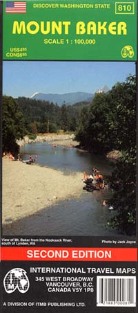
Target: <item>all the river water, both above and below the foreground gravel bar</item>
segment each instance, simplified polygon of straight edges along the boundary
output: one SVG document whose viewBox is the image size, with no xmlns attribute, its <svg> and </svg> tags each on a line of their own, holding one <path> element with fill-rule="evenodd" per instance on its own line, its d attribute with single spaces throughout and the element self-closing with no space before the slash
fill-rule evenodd
<svg viewBox="0 0 138 313">
<path fill-rule="evenodd" d="M 82 152 L 76 148 L 57 146 L 49 143 L 25 145 L 20 151 L 23 160 L 29 156 L 38 156 L 41 166 L 48 166 L 63 171 L 90 173 L 93 167 L 99 168 L 103 175 L 110 175 L 112 167 L 102 156 Z M 108 219 L 114 214 L 102 206 L 103 199 L 110 197 L 110 190 L 87 193 L 81 197 L 66 199 L 54 206 L 43 208 L 38 213 L 25 217 L 12 225 L 6 226 L 4 233 L 12 235 L 115 235 L 115 231 L 106 228 Z"/>
</svg>

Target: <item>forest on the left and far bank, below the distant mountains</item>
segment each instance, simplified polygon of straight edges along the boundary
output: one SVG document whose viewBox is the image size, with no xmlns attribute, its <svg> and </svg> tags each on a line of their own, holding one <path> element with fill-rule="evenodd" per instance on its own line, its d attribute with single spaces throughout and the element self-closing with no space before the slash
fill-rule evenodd
<svg viewBox="0 0 138 313">
<path fill-rule="evenodd" d="M 3 96 L 3 152 L 18 152 L 16 140 L 26 134 L 34 138 L 38 133 L 75 132 L 84 106 L 88 102 L 59 107 L 48 101 Z"/>
</svg>

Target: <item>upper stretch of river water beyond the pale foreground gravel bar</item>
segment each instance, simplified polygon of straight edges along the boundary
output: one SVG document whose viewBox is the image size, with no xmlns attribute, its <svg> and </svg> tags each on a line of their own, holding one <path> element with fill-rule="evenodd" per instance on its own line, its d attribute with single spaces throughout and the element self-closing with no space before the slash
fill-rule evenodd
<svg viewBox="0 0 138 313">
<path fill-rule="evenodd" d="M 49 143 L 32 143 L 21 147 L 21 158 L 28 160 L 29 156 L 38 156 L 38 163 L 42 166 L 55 168 L 70 174 L 71 172 L 90 173 L 93 167 L 99 168 L 103 175 L 110 175 L 112 167 L 103 156 L 91 155 L 73 147 Z"/>
</svg>

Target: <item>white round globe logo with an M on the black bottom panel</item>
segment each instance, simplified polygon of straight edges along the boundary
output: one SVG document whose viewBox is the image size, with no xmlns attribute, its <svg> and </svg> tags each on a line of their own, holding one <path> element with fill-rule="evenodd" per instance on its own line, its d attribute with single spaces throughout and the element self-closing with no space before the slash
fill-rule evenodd
<svg viewBox="0 0 138 313">
<path fill-rule="evenodd" d="M 12 294 L 16 289 L 25 294 L 28 292 L 30 283 L 24 269 L 11 269 L 3 279 L 4 289 L 8 294 Z"/>
</svg>

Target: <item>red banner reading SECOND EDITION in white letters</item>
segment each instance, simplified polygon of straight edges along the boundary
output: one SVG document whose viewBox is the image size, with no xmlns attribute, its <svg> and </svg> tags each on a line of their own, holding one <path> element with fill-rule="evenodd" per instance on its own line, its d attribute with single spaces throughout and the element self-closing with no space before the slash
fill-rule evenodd
<svg viewBox="0 0 138 313">
<path fill-rule="evenodd" d="M 137 262 L 136 248 L 1 248 L 1 260 Z"/>
</svg>

